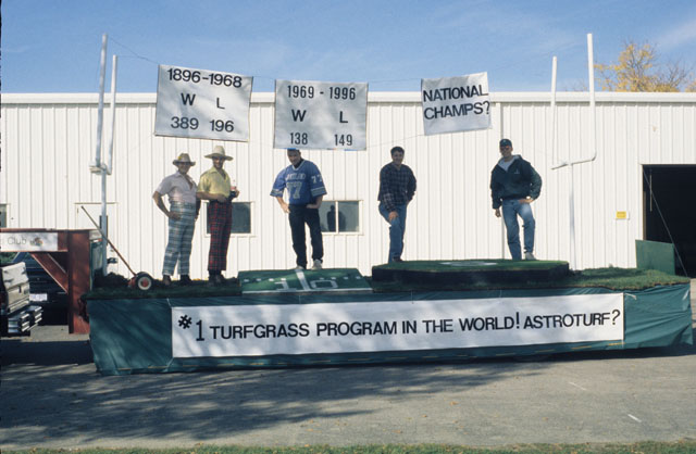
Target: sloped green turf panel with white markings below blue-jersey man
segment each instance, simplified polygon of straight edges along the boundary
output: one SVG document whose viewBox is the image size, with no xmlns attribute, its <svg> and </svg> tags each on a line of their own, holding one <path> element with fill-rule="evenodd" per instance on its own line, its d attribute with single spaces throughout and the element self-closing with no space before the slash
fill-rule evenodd
<svg viewBox="0 0 696 454">
<path fill-rule="evenodd" d="M 356 268 L 240 272 L 241 294 L 364 293 L 372 289 Z"/>
</svg>

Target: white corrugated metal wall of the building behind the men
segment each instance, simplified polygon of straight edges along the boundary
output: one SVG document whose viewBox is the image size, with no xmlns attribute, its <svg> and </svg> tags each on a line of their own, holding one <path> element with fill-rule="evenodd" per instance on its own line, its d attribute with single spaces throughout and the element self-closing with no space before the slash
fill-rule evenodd
<svg viewBox="0 0 696 454">
<path fill-rule="evenodd" d="M 642 165 L 696 164 L 696 96 L 597 93 L 597 159 L 572 171 L 551 167 L 594 152 L 586 93 L 559 93 L 556 153 L 548 93 L 492 93 L 492 129 L 425 137 L 419 93 L 370 93 L 368 150 L 303 152 L 321 168 L 327 200 L 360 201 L 359 232 L 324 235 L 325 266 L 357 267 L 370 275 L 373 265 L 386 260 L 387 226 L 376 197 L 380 169 L 395 144 L 406 149 L 406 163 L 418 178 L 405 258 L 509 257 L 488 190 L 500 137 L 512 139 L 514 152 L 544 178 L 542 198 L 533 205 L 538 257 L 570 257 L 573 172 L 577 267 L 635 265 L 634 240 L 643 238 Z M 151 201 L 152 191 L 175 172 L 171 162 L 179 152 L 197 161 L 190 175 L 198 179 L 211 165 L 204 155 L 214 144 L 235 157 L 225 168 L 237 179 L 239 200 L 252 206 L 251 234 L 233 236 L 227 274 L 291 267 L 287 218 L 269 196 L 275 175 L 287 165 L 285 151 L 273 149 L 273 94 L 253 93 L 248 143 L 154 137 L 154 102 L 153 94 L 117 96 L 113 175 L 107 179 L 110 237 L 132 267 L 160 275 L 166 223 Z M 104 115 L 110 125 L 108 110 Z M 97 96 L 3 94 L 1 123 L 0 203 L 9 205 L 9 227 L 90 227 L 78 207 L 89 204 L 91 213 L 99 213 L 101 178 L 88 168 Z M 627 211 L 630 218 L 617 220 L 617 211 Z M 194 277 L 206 276 L 204 218 L 202 211 Z M 119 272 L 127 274 L 123 265 Z"/>
</svg>

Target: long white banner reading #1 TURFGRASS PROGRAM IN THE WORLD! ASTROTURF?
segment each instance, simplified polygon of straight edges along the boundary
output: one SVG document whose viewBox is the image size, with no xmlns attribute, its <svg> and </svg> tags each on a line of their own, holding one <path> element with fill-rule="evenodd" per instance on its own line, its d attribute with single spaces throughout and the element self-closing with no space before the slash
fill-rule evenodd
<svg viewBox="0 0 696 454">
<path fill-rule="evenodd" d="M 172 307 L 172 356 L 462 349 L 623 339 L 623 294 Z"/>
</svg>

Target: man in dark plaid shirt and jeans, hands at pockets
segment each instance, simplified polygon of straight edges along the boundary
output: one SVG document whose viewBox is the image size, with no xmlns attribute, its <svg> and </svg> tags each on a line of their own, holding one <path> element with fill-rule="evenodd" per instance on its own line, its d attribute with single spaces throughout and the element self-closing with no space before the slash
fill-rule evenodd
<svg viewBox="0 0 696 454">
<path fill-rule="evenodd" d="M 403 164 L 403 149 L 391 149 L 391 162 L 380 171 L 380 214 L 389 224 L 389 263 L 402 262 L 406 207 L 415 193 L 415 176 Z"/>
</svg>

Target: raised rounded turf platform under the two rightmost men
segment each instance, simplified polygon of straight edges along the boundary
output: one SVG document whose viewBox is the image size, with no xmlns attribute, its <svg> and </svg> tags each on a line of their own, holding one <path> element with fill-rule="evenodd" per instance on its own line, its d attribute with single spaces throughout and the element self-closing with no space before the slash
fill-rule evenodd
<svg viewBox="0 0 696 454">
<path fill-rule="evenodd" d="M 568 262 L 557 261 L 493 258 L 412 261 L 372 267 L 372 280 L 375 282 L 400 281 L 410 285 L 468 283 L 480 286 L 496 282 L 550 282 L 569 275 Z"/>
</svg>

